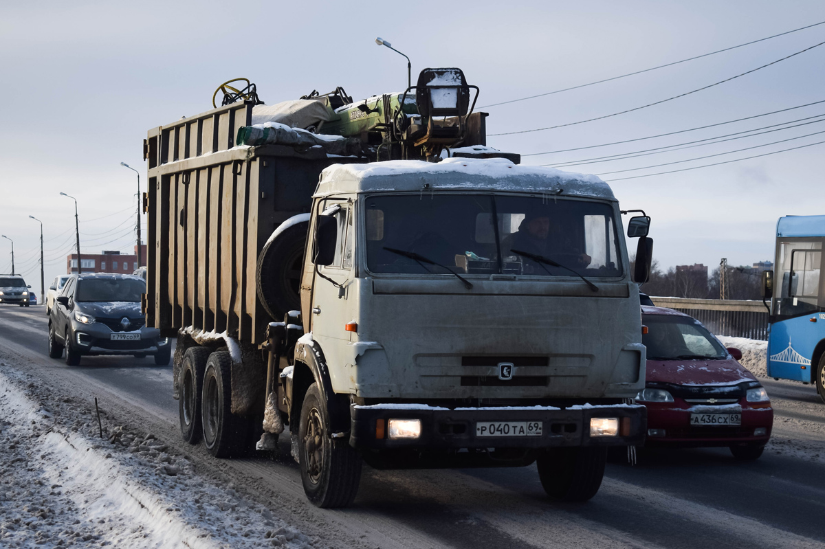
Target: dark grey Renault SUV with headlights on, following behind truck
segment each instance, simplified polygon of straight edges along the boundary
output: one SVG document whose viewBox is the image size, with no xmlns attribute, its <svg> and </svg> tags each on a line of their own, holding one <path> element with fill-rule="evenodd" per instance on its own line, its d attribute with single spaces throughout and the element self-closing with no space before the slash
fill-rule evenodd
<svg viewBox="0 0 825 549">
<path fill-rule="evenodd" d="M 143 279 L 131 275 L 72 275 L 49 315 L 49 356 L 77 366 L 84 354 L 154 356 L 169 364 L 172 345 L 157 328 L 148 328 L 140 313 Z"/>
</svg>

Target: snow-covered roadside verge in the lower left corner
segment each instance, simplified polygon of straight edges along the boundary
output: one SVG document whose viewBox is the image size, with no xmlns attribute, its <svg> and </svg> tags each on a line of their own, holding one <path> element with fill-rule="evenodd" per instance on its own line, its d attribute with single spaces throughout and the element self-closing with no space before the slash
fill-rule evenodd
<svg viewBox="0 0 825 549">
<path fill-rule="evenodd" d="M 0 547 L 316 547 L 152 434 L 47 410 L 36 381 L 0 363 Z"/>
</svg>

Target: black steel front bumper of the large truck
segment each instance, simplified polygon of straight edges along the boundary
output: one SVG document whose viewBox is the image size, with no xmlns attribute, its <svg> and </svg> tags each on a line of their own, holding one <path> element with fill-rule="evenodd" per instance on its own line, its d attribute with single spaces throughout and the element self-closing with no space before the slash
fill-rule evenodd
<svg viewBox="0 0 825 549">
<path fill-rule="evenodd" d="M 620 434 L 591 437 L 591 418 L 619 419 Z M 417 439 L 376 438 L 379 420 L 421 420 Z M 476 424 L 484 422 L 536 421 L 536 436 L 477 436 Z M 380 429 L 379 429 L 380 430 Z M 647 410 L 639 405 L 441 408 L 425 405 L 351 406 L 350 445 L 353 448 L 561 448 L 577 446 L 641 445 L 647 431 Z"/>
</svg>

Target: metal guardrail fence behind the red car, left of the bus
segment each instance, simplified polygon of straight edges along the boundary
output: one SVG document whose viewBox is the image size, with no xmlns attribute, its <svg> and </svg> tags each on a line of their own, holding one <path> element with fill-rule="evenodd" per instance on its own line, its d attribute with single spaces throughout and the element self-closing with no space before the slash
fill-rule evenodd
<svg viewBox="0 0 825 549">
<path fill-rule="evenodd" d="M 684 312 L 717 336 L 768 339 L 768 310 L 761 301 L 651 298 L 657 307 Z"/>
</svg>

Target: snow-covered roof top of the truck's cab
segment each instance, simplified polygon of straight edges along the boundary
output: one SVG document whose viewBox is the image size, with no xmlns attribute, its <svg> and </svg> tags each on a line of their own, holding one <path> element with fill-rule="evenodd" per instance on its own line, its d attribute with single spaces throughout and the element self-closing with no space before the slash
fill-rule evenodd
<svg viewBox="0 0 825 549">
<path fill-rule="evenodd" d="M 549 167 L 518 166 L 506 158 L 445 158 L 335 164 L 321 173 L 315 196 L 421 190 L 509 190 L 615 200 L 597 176 Z"/>
</svg>

